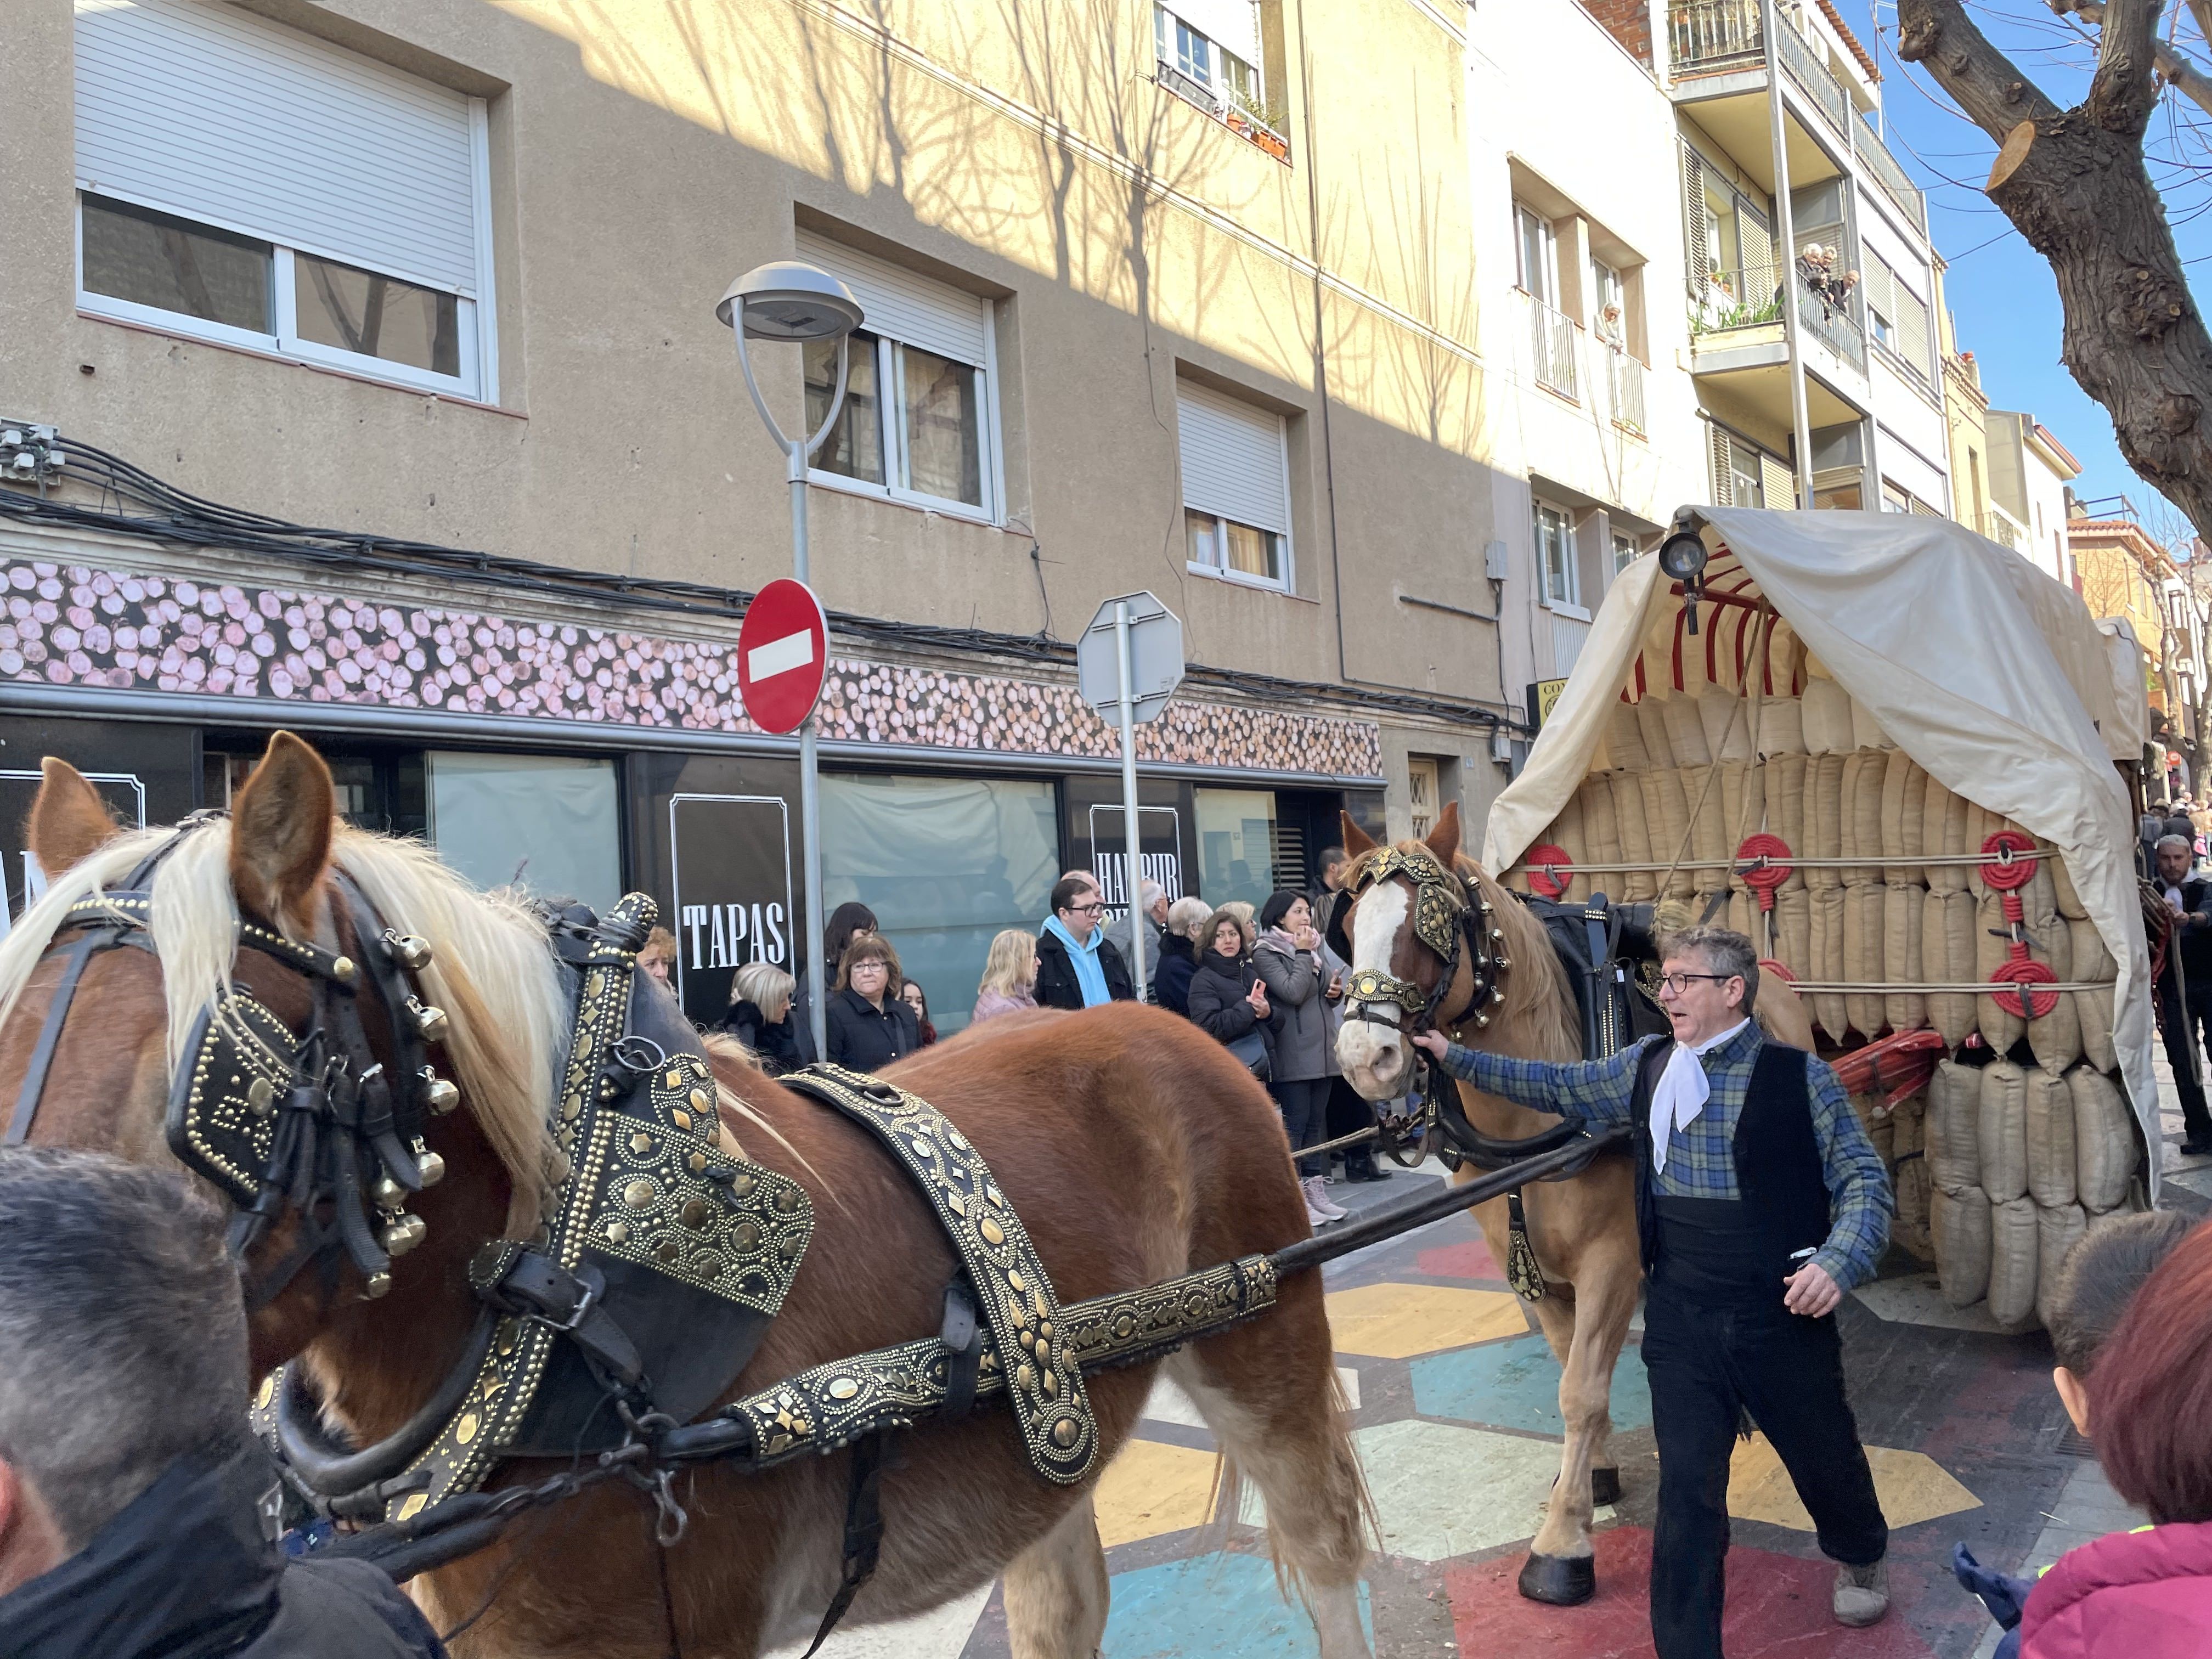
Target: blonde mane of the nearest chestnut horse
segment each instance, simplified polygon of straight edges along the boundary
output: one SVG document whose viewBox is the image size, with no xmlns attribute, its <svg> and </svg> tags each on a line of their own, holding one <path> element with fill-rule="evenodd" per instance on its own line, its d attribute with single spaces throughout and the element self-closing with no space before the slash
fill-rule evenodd
<svg viewBox="0 0 2212 1659">
<path fill-rule="evenodd" d="M 128 880 L 173 834 L 115 836 L 46 885 L 0 940 L 0 1020 L 15 1011 L 69 907 Z M 332 865 L 389 927 L 429 940 L 431 960 L 416 975 L 422 998 L 451 1020 L 445 1051 L 453 1082 L 513 1181 L 509 1232 L 529 1234 L 564 1175 L 546 1102 L 566 1055 L 568 1000 L 544 925 L 515 894 L 469 887 L 414 841 L 341 823 Z M 230 991 L 237 927 L 230 821 L 217 818 L 177 841 L 153 883 L 148 933 L 161 958 L 170 1071 L 184 1060 L 199 1013 Z"/>
</svg>

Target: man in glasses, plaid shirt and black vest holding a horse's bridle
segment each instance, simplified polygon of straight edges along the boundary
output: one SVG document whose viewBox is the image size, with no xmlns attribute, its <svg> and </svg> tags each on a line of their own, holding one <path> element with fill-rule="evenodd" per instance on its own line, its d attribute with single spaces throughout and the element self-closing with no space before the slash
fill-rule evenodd
<svg viewBox="0 0 2212 1659">
<path fill-rule="evenodd" d="M 1661 964 L 1672 1040 L 1584 1064 L 1506 1060 L 1438 1031 L 1413 1040 L 1491 1095 L 1635 1130 L 1659 1659 L 1721 1659 L 1728 1471 L 1745 1416 L 1836 1562 L 1836 1621 L 1889 1610 L 1889 1526 L 1836 1329 L 1845 1292 L 1874 1276 L 1889 1241 L 1889 1175 L 1827 1062 L 1759 1033 L 1756 993 L 1752 942 L 1692 927 L 1666 942 Z"/>
</svg>

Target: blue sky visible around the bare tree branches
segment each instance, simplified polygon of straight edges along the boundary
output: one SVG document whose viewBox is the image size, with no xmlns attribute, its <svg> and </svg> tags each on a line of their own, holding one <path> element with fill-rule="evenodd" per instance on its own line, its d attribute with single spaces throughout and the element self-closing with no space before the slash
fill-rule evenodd
<svg viewBox="0 0 2212 1659">
<path fill-rule="evenodd" d="M 1951 261 L 1944 299 L 1958 319 L 1958 345 L 1980 361 L 1991 405 L 2028 409 L 2057 434 L 2081 462 L 2081 478 L 2075 480 L 2079 495 L 2126 493 L 2148 513 L 2157 491 L 2121 460 L 2110 416 L 2059 363 L 2059 299 L 2051 265 L 1982 195 L 1995 146 L 1922 69 L 1898 62 L 1893 0 L 1836 0 L 1836 9 L 1880 64 L 1889 148 L 1929 195 L 1929 232 Z M 2059 104 L 2079 102 L 2090 53 L 2044 0 L 1966 0 L 1966 9 L 2044 93 Z M 2185 38 L 2183 44 L 2194 44 L 2192 55 L 2203 62 L 2201 40 Z M 2172 104 L 2174 95 L 2166 100 Z M 2161 106 L 2152 131 L 2172 133 L 2170 124 L 2181 113 L 2194 113 L 2194 106 Z M 2177 144 L 2185 146 L 2188 159 L 2208 159 L 2194 137 L 2168 137 L 2152 153 L 2177 155 Z M 2152 177 L 2166 188 L 2181 257 L 2212 259 L 2212 219 L 2201 217 L 2212 195 L 2203 177 L 2174 166 L 2154 166 Z M 2194 265 L 2190 274 L 2199 283 L 2212 281 L 2205 265 Z"/>
</svg>

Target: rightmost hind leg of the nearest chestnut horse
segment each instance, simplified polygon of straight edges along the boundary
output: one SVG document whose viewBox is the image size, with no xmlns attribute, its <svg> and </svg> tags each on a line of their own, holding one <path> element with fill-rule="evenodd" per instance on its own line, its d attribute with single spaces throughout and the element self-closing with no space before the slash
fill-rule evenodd
<svg viewBox="0 0 2212 1659">
<path fill-rule="evenodd" d="M 1367 1659 L 1367 1482 L 1345 1431 L 1318 1274 L 1285 1285 L 1265 1318 L 1192 1345 L 1166 1369 L 1221 1442 L 1223 1491 L 1234 1495 L 1250 1475 L 1267 1502 L 1267 1546 L 1305 1597 L 1321 1659 Z"/>
</svg>

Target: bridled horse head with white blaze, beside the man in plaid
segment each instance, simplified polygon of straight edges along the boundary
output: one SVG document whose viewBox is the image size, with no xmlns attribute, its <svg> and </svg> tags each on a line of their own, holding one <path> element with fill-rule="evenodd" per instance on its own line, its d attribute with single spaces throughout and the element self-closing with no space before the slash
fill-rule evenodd
<svg viewBox="0 0 2212 1659">
<path fill-rule="evenodd" d="M 1458 803 L 1422 841 L 1380 845 L 1349 814 L 1343 830 L 1352 863 L 1329 931 L 1352 973 L 1336 1062 L 1360 1095 L 1402 1095 L 1409 1037 L 1429 1026 L 1471 1046 L 1573 1055 L 1544 931 L 1460 852 Z"/>
</svg>

